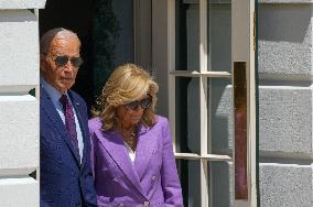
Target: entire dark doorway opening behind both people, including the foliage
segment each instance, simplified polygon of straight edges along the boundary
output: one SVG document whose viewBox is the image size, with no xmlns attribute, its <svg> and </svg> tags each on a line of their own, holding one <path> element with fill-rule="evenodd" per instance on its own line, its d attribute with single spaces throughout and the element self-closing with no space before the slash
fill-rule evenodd
<svg viewBox="0 0 313 207">
<path fill-rule="evenodd" d="M 82 41 L 84 64 L 73 89 L 90 109 L 114 68 L 134 61 L 133 0 L 47 0 L 40 35 L 53 28 L 69 29 Z"/>
</svg>

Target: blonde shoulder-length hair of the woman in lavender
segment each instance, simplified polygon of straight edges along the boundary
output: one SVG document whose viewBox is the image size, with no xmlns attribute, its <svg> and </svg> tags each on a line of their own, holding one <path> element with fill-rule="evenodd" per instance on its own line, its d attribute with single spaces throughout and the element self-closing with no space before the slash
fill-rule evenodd
<svg viewBox="0 0 313 207">
<path fill-rule="evenodd" d="M 94 110 L 94 115 L 100 117 L 104 131 L 114 129 L 118 124 L 116 115 L 118 106 L 150 95 L 152 103 L 144 109 L 141 123 L 151 127 L 155 122 L 154 108 L 158 90 L 158 84 L 140 66 L 134 64 L 121 65 L 112 72 L 102 88 L 101 95 L 97 99 L 98 110 Z"/>
</svg>

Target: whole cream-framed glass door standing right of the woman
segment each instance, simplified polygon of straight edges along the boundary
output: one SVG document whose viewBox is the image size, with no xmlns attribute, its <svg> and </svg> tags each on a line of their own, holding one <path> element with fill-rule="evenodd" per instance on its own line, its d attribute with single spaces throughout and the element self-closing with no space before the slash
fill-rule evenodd
<svg viewBox="0 0 313 207">
<path fill-rule="evenodd" d="M 251 70 L 255 69 L 250 46 L 253 40 L 250 30 L 253 2 L 170 0 L 168 3 L 170 121 L 175 129 L 174 152 L 184 205 L 256 206 L 251 186 L 255 181 L 251 164 L 255 163 L 252 153 L 256 143 L 250 142 L 253 128 L 235 128 L 248 126 L 248 121 L 251 126 L 255 118 L 251 116 L 255 97 L 249 96 L 253 91 L 250 80 L 253 79 Z M 238 84 L 234 80 L 234 74 L 238 74 L 234 65 L 245 66 L 239 68 L 239 72 L 245 69 L 241 78 L 247 83 L 245 94 L 248 95 L 248 112 L 245 116 L 250 116 L 242 119 L 245 124 L 236 122 L 241 115 L 236 113 L 238 109 L 234 103 L 240 97 L 238 94 L 235 96 L 234 90 L 244 85 L 239 83 L 234 86 L 234 83 Z M 242 143 L 249 148 L 240 156 L 235 156 L 238 155 L 238 149 L 235 149 L 238 144 L 234 140 L 237 140 L 235 132 L 238 131 L 239 137 L 248 138 Z M 240 162 L 235 162 L 238 159 Z M 237 164 L 242 162 L 246 163 L 240 165 L 240 171 L 235 171 L 238 170 Z M 242 171 L 245 176 L 241 176 Z M 240 179 L 240 183 L 238 177 L 245 181 Z M 249 186 L 246 197 L 237 196 L 244 195 L 237 192 L 242 189 L 241 184 Z"/>
</svg>

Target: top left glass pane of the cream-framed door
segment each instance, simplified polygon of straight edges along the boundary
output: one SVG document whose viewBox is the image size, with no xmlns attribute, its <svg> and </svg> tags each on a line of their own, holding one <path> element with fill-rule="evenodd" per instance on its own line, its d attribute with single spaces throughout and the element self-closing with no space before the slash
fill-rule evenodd
<svg viewBox="0 0 313 207">
<path fill-rule="evenodd" d="M 199 70 L 198 0 L 176 0 L 176 70 Z"/>
</svg>

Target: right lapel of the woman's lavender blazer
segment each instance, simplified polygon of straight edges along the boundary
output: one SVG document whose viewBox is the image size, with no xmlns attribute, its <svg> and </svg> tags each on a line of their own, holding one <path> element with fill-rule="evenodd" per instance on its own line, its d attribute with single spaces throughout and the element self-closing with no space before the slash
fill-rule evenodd
<svg viewBox="0 0 313 207">
<path fill-rule="evenodd" d="M 134 159 L 134 167 L 140 179 L 143 176 L 154 151 L 156 150 L 156 138 L 159 134 L 154 133 L 155 131 L 153 129 L 151 130 L 145 128 L 143 124 L 140 124 Z"/>
</svg>

